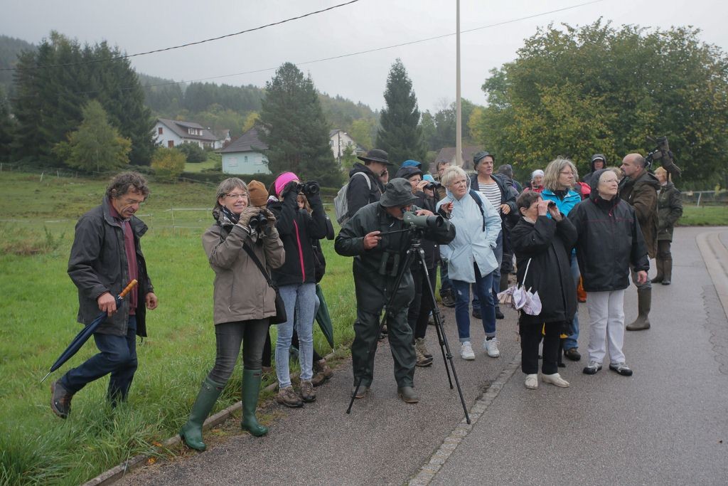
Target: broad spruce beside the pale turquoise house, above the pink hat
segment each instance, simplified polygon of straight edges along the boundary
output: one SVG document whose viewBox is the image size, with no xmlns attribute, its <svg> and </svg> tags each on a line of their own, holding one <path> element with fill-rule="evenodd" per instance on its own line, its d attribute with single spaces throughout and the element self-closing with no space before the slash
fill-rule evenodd
<svg viewBox="0 0 728 486">
<path fill-rule="evenodd" d="M 311 77 L 284 63 L 266 82 L 261 109 L 261 138 L 268 144 L 272 173 L 293 171 L 305 180 L 334 187 L 341 171 L 328 144 L 328 123 Z"/>
</svg>

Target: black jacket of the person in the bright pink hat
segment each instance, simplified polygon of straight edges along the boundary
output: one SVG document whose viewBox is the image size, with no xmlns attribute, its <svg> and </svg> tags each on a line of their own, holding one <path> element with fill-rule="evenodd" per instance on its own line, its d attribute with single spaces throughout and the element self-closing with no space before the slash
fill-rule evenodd
<svg viewBox="0 0 728 486">
<path fill-rule="evenodd" d="M 326 238 L 326 213 L 318 195 L 307 196 L 312 213 L 298 210 L 296 193 L 282 201 L 269 199 L 268 208 L 276 217 L 275 227 L 285 250 L 285 262 L 273 270 L 277 286 L 316 282 L 316 261 L 311 240 Z"/>
</svg>

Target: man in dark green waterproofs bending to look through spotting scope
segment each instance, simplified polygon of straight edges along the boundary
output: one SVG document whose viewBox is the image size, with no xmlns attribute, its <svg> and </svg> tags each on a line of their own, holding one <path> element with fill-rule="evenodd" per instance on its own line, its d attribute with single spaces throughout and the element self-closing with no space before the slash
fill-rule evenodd
<svg viewBox="0 0 728 486">
<path fill-rule="evenodd" d="M 403 222 L 405 211 L 432 216 L 431 211 L 413 205 L 416 197 L 406 179 L 392 179 L 377 203 L 366 205 L 349 219 L 336 237 L 334 248 L 343 256 L 354 256 L 352 270 L 357 296 L 357 320 L 352 342 L 354 378 L 361 379 L 356 395 L 363 398 L 373 380 L 374 353 L 379 336 L 379 316 L 387 308 L 389 347 L 395 361 L 397 394 L 407 403 L 416 403 L 413 377 L 415 350 L 412 329 L 407 323 L 410 302 L 414 298 L 414 283 L 409 267 L 403 267 L 411 243 L 411 232 Z M 427 229 L 425 235 L 438 243 L 449 243 L 455 237 L 449 222 Z M 397 275 L 403 272 L 400 286 L 393 288 Z M 393 296 L 393 298 L 392 298 Z M 352 393 L 354 393 L 352 391 Z"/>
</svg>

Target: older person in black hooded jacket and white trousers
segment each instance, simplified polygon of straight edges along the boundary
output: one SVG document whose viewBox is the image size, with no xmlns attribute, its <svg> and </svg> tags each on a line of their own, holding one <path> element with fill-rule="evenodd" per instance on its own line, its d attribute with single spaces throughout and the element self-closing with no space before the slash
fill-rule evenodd
<svg viewBox="0 0 728 486">
<path fill-rule="evenodd" d="M 617 175 L 603 169 L 594 173 L 592 181 L 590 198 L 569 211 L 588 294 L 589 364 L 583 371 L 594 375 L 601 369 L 609 343 L 609 369 L 631 376 L 622 353 L 625 289 L 630 285 L 630 268 L 638 285 L 647 280 L 649 258 L 636 211 L 619 197 Z"/>
</svg>

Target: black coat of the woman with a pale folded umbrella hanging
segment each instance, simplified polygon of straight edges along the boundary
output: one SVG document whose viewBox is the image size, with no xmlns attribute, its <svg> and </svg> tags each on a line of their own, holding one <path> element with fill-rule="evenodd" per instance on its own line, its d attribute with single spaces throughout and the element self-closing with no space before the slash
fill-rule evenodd
<svg viewBox="0 0 728 486">
<path fill-rule="evenodd" d="M 555 222 L 547 216 L 539 216 L 535 223 L 521 219 L 510 233 L 510 242 L 518 265 L 518 283 L 526 290 L 538 291 L 541 313 L 521 313 L 519 322 L 543 324 L 545 322 L 571 322 L 577 312 L 577 289 L 571 278 L 569 258 L 577 241 L 577 230 L 565 217 Z M 526 266 L 529 273 L 523 276 Z"/>
</svg>

